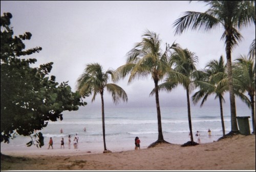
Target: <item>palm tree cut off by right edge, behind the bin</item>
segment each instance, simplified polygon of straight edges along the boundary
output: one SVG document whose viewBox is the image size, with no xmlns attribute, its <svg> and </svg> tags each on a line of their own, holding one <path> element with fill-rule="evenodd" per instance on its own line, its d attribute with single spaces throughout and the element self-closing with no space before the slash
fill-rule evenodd
<svg viewBox="0 0 256 172">
<path fill-rule="evenodd" d="M 254 96 L 255 96 L 255 59 L 253 57 L 241 57 L 234 64 L 234 80 L 240 87 L 238 95 L 242 100 L 247 102 L 251 108 L 252 131 L 255 134 L 255 111 L 254 111 Z M 250 99 L 243 93 L 247 91 Z"/>
</svg>

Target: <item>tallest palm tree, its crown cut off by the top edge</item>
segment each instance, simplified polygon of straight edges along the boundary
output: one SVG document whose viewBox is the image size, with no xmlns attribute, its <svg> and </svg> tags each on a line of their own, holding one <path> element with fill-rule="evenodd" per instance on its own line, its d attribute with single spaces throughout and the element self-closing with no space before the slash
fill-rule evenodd
<svg viewBox="0 0 256 172">
<path fill-rule="evenodd" d="M 174 22 L 175 34 L 182 34 L 185 30 L 202 30 L 208 32 L 221 25 L 224 33 L 221 39 L 226 44 L 227 73 L 229 86 L 229 99 L 231 111 L 231 131 L 238 133 L 236 119 L 236 102 L 232 84 L 231 52 L 241 40 L 242 35 L 238 29 L 255 24 L 255 1 L 203 1 L 209 9 L 204 13 L 187 11 Z"/>
</svg>

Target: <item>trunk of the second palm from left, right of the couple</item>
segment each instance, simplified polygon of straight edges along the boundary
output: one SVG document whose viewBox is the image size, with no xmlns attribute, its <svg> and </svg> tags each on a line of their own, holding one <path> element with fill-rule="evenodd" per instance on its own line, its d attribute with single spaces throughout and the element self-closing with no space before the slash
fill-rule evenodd
<svg viewBox="0 0 256 172">
<path fill-rule="evenodd" d="M 159 94 L 158 94 L 158 80 L 154 80 L 156 90 L 156 105 L 157 105 L 157 124 L 158 124 L 158 142 L 163 142 L 162 122 L 161 122 L 161 111 L 159 105 Z"/>
</svg>

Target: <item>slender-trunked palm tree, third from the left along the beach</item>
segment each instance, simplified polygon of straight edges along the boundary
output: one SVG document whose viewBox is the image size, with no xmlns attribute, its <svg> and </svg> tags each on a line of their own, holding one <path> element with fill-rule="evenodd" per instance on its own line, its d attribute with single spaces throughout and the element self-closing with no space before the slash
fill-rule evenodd
<svg viewBox="0 0 256 172">
<path fill-rule="evenodd" d="M 191 112 L 190 112 L 190 101 L 189 101 L 189 92 L 193 88 L 193 81 L 191 78 L 193 77 L 194 73 L 197 71 L 196 63 L 198 61 L 198 57 L 195 53 L 188 51 L 187 49 L 183 50 L 184 58 L 179 56 L 178 54 L 173 54 L 172 58 L 170 59 L 170 65 L 175 65 L 174 70 L 182 73 L 186 80 L 176 80 L 179 84 L 183 85 L 186 90 L 186 97 L 187 97 L 187 116 L 188 116 L 188 125 L 189 125 L 189 132 L 190 132 L 190 141 L 193 143 L 193 132 L 192 132 L 192 122 L 191 122 Z M 173 82 L 174 78 L 172 75 L 166 79 L 166 82 Z"/>
</svg>

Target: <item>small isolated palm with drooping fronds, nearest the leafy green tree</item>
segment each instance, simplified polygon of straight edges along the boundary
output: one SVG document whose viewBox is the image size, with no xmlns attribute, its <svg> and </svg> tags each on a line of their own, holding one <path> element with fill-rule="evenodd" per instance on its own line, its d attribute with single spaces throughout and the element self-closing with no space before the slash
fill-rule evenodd
<svg viewBox="0 0 256 172">
<path fill-rule="evenodd" d="M 101 96 L 101 112 L 102 112 L 102 132 L 103 132 L 103 142 L 104 142 L 104 152 L 106 150 L 105 142 L 105 115 L 104 115 L 104 99 L 103 93 L 106 88 L 112 94 L 112 99 L 115 104 L 118 104 L 120 99 L 127 102 L 128 98 L 125 91 L 116 84 L 109 84 L 109 75 L 114 79 L 114 72 L 108 70 L 105 73 L 102 72 L 102 66 L 98 63 L 88 64 L 84 72 L 77 80 L 77 90 L 81 95 L 90 95 L 93 93 L 92 102 L 95 100 L 96 95 L 99 93 Z M 103 152 L 103 153 L 104 153 Z"/>
</svg>

